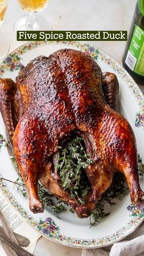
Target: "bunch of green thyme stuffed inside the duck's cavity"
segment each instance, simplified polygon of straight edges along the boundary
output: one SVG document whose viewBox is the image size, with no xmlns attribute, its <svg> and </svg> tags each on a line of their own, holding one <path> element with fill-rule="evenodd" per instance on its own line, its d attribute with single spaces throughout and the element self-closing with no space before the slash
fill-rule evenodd
<svg viewBox="0 0 144 256">
<path fill-rule="evenodd" d="M 75 137 L 65 148 L 59 147 L 60 157 L 56 168 L 62 188 L 70 194 L 71 199 L 76 198 L 79 203 L 84 204 L 84 197 L 91 189 L 85 169 L 93 160 L 85 152 L 82 143 L 81 137 Z"/>
</svg>

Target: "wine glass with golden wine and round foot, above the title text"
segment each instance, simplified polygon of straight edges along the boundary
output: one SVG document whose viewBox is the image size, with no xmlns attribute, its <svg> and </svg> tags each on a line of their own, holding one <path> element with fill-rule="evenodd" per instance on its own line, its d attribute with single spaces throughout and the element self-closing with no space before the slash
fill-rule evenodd
<svg viewBox="0 0 144 256">
<path fill-rule="evenodd" d="M 18 0 L 21 8 L 28 12 L 27 15 L 22 16 L 16 21 L 14 29 L 16 31 L 37 31 L 37 30 L 51 30 L 51 25 L 37 12 L 41 12 L 48 0 Z"/>
</svg>

